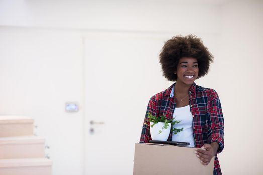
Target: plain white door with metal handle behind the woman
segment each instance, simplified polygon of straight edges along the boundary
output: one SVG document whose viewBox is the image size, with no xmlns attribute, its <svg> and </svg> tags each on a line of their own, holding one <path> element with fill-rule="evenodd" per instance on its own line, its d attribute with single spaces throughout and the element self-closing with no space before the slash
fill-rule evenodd
<svg viewBox="0 0 263 175">
<path fill-rule="evenodd" d="M 84 39 L 85 174 L 132 174 L 148 100 L 167 87 L 163 44 L 131 34 Z"/>
</svg>

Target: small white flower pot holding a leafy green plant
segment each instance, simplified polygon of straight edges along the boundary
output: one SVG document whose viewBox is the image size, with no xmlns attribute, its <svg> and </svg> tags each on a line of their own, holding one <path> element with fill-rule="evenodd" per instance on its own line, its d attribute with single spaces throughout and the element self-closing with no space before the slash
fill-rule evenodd
<svg viewBox="0 0 263 175">
<path fill-rule="evenodd" d="M 158 122 L 153 127 L 151 127 L 153 123 L 154 122 L 150 122 L 150 134 L 152 140 L 167 141 L 171 130 L 171 123 L 168 123 L 167 129 L 163 129 L 164 122 Z M 162 131 L 161 133 L 159 132 L 160 130 Z"/>
</svg>

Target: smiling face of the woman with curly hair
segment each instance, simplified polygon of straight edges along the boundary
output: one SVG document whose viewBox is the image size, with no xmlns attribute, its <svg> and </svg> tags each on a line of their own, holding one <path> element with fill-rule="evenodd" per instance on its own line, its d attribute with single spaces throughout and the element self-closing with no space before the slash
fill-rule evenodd
<svg viewBox="0 0 263 175">
<path fill-rule="evenodd" d="M 198 62 L 196 58 L 182 57 L 177 65 L 177 83 L 192 85 L 198 77 Z"/>
</svg>

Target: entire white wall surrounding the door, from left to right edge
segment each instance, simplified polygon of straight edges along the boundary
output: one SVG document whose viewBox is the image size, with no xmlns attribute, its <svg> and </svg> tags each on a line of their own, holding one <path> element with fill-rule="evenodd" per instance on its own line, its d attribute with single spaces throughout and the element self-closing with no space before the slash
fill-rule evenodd
<svg viewBox="0 0 263 175">
<path fill-rule="evenodd" d="M 262 1 L 252 0 L 221 5 L 0 0 L 0 114 L 32 116 L 51 146 L 53 174 L 82 174 L 82 36 L 131 32 L 165 40 L 193 33 L 215 56 L 211 71 L 197 83 L 216 89 L 222 102 L 222 171 L 260 174 L 262 8 Z M 64 112 L 66 101 L 79 102 L 80 111 Z"/>
</svg>

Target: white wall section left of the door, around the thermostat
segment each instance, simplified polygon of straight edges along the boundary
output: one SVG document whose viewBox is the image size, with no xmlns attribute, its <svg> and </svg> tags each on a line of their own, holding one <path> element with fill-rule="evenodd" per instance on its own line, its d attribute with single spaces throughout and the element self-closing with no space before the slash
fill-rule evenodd
<svg viewBox="0 0 263 175">
<path fill-rule="evenodd" d="M 47 153 L 54 174 L 81 174 L 81 37 L 72 32 L 1 28 L 0 38 L 0 114 L 34 118 L 35 133 L 50 146 Z M 79 102 L 80 111 L 66 113 L 67 101 Z"/>
</svg>

